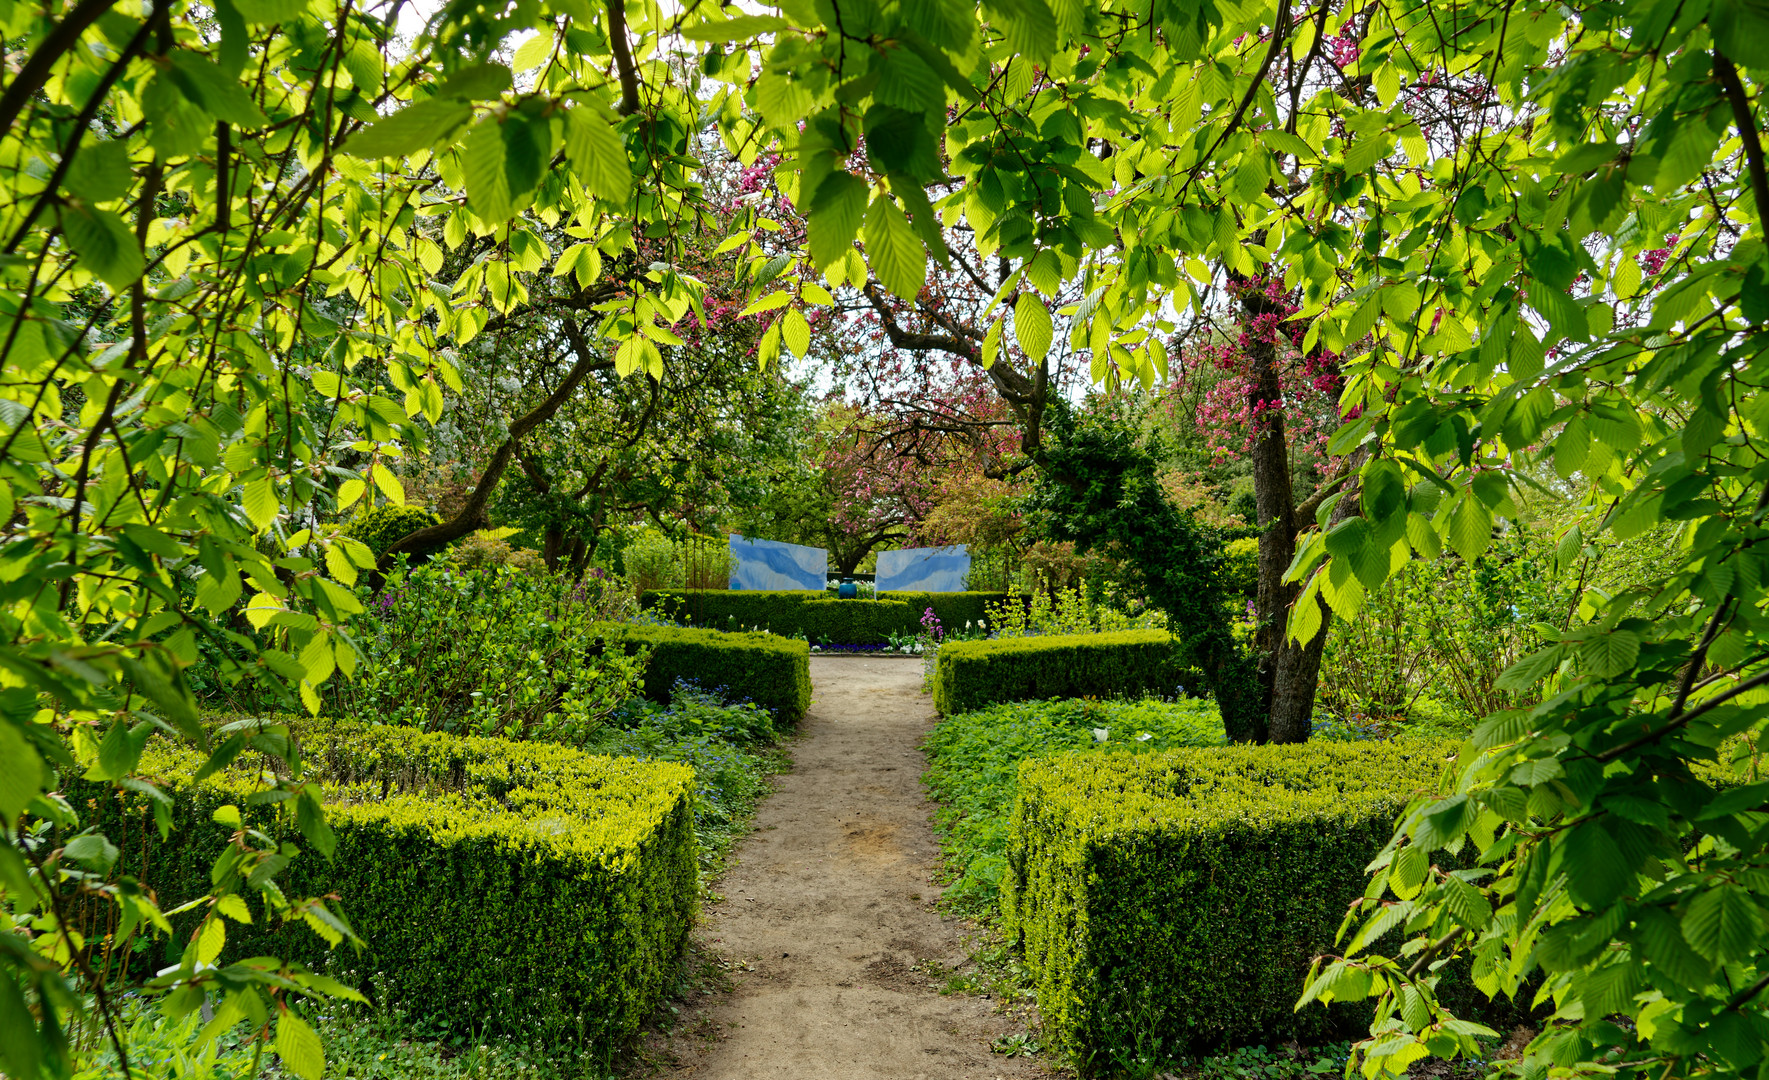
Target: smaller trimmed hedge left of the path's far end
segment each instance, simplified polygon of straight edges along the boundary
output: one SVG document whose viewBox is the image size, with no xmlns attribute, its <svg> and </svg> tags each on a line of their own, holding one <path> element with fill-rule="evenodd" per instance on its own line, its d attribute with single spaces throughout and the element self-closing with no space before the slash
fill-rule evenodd
<svg viewBox="0 0 1769 1080">
<path fill-rule="evenodd" d="M 833 603 L 833 601 L 831 601 Z M 810 707 L 810 645 L 766 633 L 722 633 L 681 626 L 621 626 L 610 631 L 649 645 L 646 696 L 669 702 L 678 679 L 729 698 L 748 698 L 780 723 L 798 723 Z"/>
</svg>

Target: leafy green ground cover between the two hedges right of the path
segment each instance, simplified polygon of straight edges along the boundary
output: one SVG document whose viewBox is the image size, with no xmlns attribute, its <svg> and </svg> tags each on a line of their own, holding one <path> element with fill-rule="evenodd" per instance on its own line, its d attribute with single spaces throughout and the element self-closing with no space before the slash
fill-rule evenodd
<svg viewBox="0 0 1769 1080">
<path fill-rule="evenodd" d="M 1100 737 L 1104 732 L 1104 737 Z M 1012 702 L 939 721 L 927 737 L 927 790 L 955 880 L 941 896 L 966 914 L 992 910 L 1007 868 L 1007 820 L 1019 764 L 1063 751 L 1155 753 L 1226 742 L 1215 705 L 1182 702 Z"/>
</svg>

